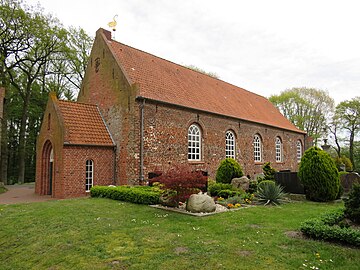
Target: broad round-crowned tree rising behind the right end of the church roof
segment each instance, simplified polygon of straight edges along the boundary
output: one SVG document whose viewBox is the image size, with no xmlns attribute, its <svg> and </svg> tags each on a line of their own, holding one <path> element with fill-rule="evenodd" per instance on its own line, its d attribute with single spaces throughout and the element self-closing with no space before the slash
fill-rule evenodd
<svg viewBox="0 0 360 270">
<path fill-rule="evenodd" d="M 269 100 L 299 129 L 315 142 L 326 133 L 327 119 L 334 100 L 326 91 L 315 88 L 292 88 L 272 95 Z"/>
</svg>

